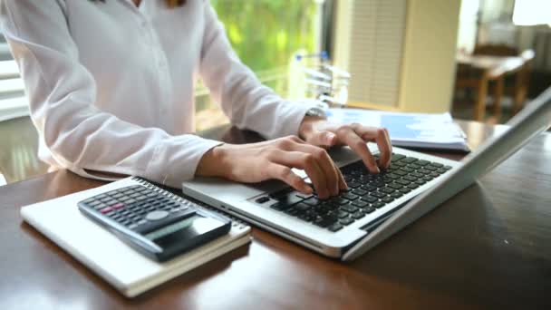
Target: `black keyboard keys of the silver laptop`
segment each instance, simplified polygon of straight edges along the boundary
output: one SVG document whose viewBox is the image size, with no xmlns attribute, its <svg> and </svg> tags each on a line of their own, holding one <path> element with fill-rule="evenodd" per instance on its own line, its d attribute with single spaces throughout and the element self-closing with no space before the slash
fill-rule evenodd
<svg viewBox="0 0 551 310">
<path fill-rule="evenodd" d="M 335 232 L 450 169 L 438 162 L 392 154 L 390 168 L 372 174 L 358 160 L 341 168 L 348 189 L 338 196 L 320 200 L 315 193 L 306 195 L 287 188 L 269 195 L 277 200 L 270 208 Z"/>
</svg>

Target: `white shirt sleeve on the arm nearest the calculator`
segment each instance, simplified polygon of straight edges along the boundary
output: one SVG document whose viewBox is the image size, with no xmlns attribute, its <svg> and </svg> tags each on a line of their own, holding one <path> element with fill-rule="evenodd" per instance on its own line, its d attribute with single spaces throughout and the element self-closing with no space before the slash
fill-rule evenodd
<svg viewBox="0 0 551 310">
<path fill-rule="evenodd" d="M 53 159 L 73 172 L 137 175 L 172 187 L 195 175 L 218 141 L 172 136 L 93 105 L 96 83 L 79 63 L 63 1 L 0 1 L 0 23 L 24 79 L 32 121 Z"/>
</svg>

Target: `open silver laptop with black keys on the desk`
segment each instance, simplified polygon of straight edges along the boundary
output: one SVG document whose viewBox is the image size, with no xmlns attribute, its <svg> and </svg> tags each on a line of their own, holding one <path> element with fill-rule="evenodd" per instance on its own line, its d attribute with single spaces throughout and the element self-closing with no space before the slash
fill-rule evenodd
<svg viewBox="0 0 551 310">
<path fill-rule="evenodd" d="M 461 161 L 393 148 L 390 169 L 378 175 L 370 174 L 350 149 L 330 150 L 350 188 L 332 199 L 318 200 L 275 180 L 241 184 L 197 178 L 184 182 L 182 190 L 324 256 L 349 261 L 469 187 L 545 131 L 551 124 L 551 88 L 507 124 L 507 131 Z M 372 143 L 368 147 L 378 153 Z"/>
</svg>

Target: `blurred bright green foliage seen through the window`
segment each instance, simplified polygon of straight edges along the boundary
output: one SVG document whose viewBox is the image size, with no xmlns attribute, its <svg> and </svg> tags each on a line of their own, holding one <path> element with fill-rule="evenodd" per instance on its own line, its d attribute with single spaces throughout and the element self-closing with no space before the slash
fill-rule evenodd
<svg viewBox="0 0 551 310">
<path fill-rule="evenodd" d="M 285 66 L 300 49 L 314 49 L 313 0 L 211 0 L 227 37 L 255 72 Z"/>
</svg>

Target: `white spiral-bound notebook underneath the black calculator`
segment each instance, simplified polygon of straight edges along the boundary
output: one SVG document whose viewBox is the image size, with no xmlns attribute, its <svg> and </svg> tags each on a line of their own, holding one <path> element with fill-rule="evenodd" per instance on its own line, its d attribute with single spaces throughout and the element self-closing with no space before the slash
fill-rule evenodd
<svg viewBox="0 0 551 310">
<path fill-rule="evenodd" d="M 77 207 L 77 202 L 82 199 L 143 182 L 137 178 L 121 179 L 99 188 L 23 207 L 21 215 L 31 226 L 128 297 L 140 295 L 250 242 L 250 227 L 235 220 L 227 235 L 159 263 L 142 256 L 107 229 L 84 217 Z M 147 185 L 156 188 L 150 183 Z"/>
</svg>

